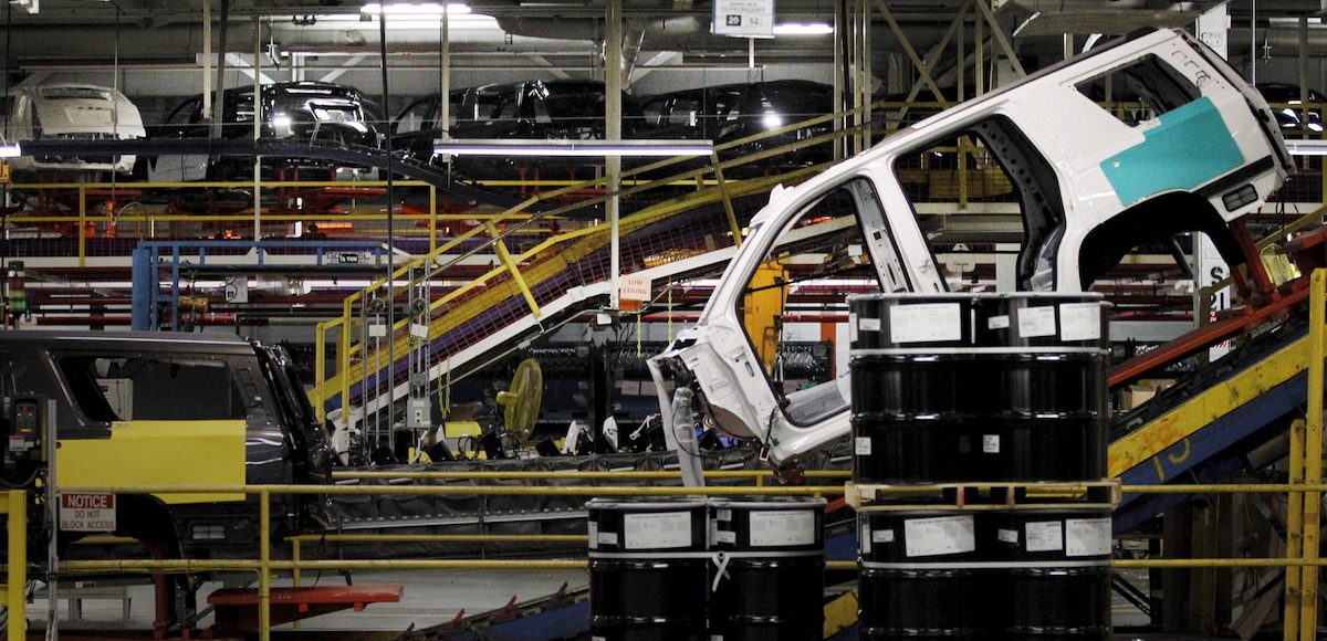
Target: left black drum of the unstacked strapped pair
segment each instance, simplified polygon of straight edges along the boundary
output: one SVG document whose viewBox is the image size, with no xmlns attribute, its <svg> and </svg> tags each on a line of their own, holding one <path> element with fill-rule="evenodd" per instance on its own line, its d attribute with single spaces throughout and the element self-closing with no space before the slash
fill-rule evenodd
<svg viewBox="0 0 1327 641">
<path fill-rule="evenodd" d="M 585 508 L 591 636 L 706 638 L 705 499 L 592 499 Z"/>
</svg>

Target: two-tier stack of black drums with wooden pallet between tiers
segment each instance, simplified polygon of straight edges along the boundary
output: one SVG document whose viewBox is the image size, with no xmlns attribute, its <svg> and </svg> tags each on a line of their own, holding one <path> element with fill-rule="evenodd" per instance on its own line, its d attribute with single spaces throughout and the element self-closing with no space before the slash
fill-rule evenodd
<svg viewBox="0 0 1327 641">
<path fill-rule="evenodd" d="M 851 307 L 863 637 L 1105 638 L 1101 299 L 878 295 Z"/>
</svg>

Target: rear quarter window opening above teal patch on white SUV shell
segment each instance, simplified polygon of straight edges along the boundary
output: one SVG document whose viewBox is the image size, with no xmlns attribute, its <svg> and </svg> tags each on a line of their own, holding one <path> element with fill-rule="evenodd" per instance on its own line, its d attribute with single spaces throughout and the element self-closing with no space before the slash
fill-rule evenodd
<svg viewBox="0 0 1327 641">
<path fill-rule="evenodd" d="M 1075 89 L 1129 126 L 1173 111 L 1202 96 L 1189 78 L 1156 54 L 1079 82 Z"/>
</svg>

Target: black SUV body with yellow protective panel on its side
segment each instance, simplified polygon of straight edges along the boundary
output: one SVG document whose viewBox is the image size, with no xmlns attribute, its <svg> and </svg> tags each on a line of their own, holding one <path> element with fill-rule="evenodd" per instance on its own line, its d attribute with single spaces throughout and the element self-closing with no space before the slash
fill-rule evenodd
<svg viewBox="0 0 1327 641">
<path fill-rule="evenodd" d="M 61 486 L 332 482 L 328 434 L 280 346 L 226 334 L 0 332 L 0 372 L 7 418 L 21 401 L 53 403 Z M 115 499 L 115 534 L 184 559 L 256 549 L 256 496 Z M 272 496 L 273 535 L 325 522 L 324 496 Z"/>
</svg>

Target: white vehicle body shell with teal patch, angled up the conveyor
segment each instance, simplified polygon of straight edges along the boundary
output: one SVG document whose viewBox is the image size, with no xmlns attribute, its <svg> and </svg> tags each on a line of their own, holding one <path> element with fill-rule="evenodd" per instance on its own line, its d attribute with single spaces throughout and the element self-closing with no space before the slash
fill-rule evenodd
<svg viewBox="0 0 1327 641">
<path fill-rule="evenodd" d="M 1139 80 L 1139 96 L 1160 105 L 1158 115 L 1125 122 L 1087 96 L 1100 86 L 1109 96 L 1112 81 L 1101 78 L 1116 76 Z M 1115 92 L 1123 93 L 1119 85 Z M 768 256 L 811 234 L 799 227 L 802 214 L 811 219 L 821 200 L 843 194 L 856 214 L 821 224 L 847 230 L 844 220 L 857 220 L 861 246 L 847 253 L 867 256 L 863 269 L 880 291 L 946 291 L 894 163 L 958 135 L 979 138 L 1010 177 L 1024 228 L 1022 291 L 1085 289 L 1132 247 L 1184 231 L 1208 234 L 1227 261 L 1241 261 L 1229 223 L 1258 210 L 1292 167 L 1262 97 L 1206 46 L 1172 31 L 1107 45 L 902 129 L 795 188 L 775 190 L 755 215 L 698 322 L 650 361 L 673 442 L 689 438 L 693 410 L 758 439 L 774 463 L 849 435 L 848 373 L 786 393 L 747 336 L 744 296 L 756 291 L 752 277 Z"/>
</svg>

